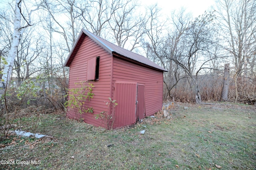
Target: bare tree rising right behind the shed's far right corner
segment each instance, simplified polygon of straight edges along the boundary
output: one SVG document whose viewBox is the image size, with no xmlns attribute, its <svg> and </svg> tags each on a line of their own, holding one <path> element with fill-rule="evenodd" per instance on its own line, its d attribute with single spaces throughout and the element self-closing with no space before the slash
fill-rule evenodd
<svg viewBox="0 0 256 170">
<path fill-rule="evenodd" d="M 186 30 L 186 24 L 189 22 L 189 20 L 186 21 L 187 23 L 185 22 L 183 12 L 181 11 L 179 16 L 175 16 L 176 14 L 173 13 L 169 21 L 174 24 L 174 28 L 166 28 L 159 21 L 160 9 L 154 5 L 149 8 L 148 20 L 145 22 L 144 29 L 147 37 L 145 38 L 144 49 L 146 49 L 146 55 L 150 60 L 168 70 L 167 73 L 164 73 L 167 98 L 172 98 L 171 90 L 176 87 L 179 80 L 185 77 L 181 67 L 171 60 L 177 53 L 180 53 L 180 50 L 183 50 L 179 41 Z"/>
</svg>

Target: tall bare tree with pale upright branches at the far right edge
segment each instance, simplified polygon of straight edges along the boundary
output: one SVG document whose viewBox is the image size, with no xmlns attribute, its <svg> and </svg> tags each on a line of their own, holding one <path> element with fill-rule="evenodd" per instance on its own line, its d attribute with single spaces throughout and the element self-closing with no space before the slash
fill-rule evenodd
<svg viewBox="0 0 256 170">
<path fill-rule="evenodd" d="M 218 21 L 223 31 L 223 47 L 232 57 L 234 64 L 233 77 L 236 88 L 235 101 L 237 101 L 239 91 L 244 89 L 244 86 L 239 89 L 238 79 L 243 75 L 243 82 L 248 80 L 248 63 L 253 63 L 255 60 L 256 1 L 219 0 L 217 6 Z M 244 93 L 242 91 L 241 93 Z"/>
</svg>

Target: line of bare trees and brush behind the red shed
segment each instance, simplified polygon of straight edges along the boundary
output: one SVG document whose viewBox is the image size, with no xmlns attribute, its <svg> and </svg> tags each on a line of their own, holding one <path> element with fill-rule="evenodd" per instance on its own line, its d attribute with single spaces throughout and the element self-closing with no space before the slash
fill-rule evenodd
<svg viewBox="0 0 256 170">
<path fill-rule="evenodd" d="M 0 7 L 5 106 L 23 101 L 63 108 L 68 88 L 63 64 L 82 28 L 168 70 L 164 100 L 253 103 L 255 1 L 218 0 L 196 18 L 184 8 L 164 15 L 157 4 L 135 0 L 9 1 Z"/>
</svg>

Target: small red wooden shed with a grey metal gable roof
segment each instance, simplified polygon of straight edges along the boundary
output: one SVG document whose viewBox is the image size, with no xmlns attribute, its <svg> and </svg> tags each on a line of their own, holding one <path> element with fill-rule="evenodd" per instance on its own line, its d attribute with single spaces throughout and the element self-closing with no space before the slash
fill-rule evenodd
<svg viewBox="0 0 256 170">
<path fill-rule="evenodd" d="M 107 127 L 104 119 L 96 119 L 102 111 L 112 115 L 113 128 L 132 125 L 162 109 L 164 68 L 93 33 L 82 29 L 64 64 L 70 67 L 69 88 L 86 81 L 94 85 L 93 98 L 86 102 L 93 113 L 83 113 L 84 122 Z M 116 107 L 108 106 L 109 98 Z M 68 108 L 67 116 L 76 118 Z"/>
</svg>

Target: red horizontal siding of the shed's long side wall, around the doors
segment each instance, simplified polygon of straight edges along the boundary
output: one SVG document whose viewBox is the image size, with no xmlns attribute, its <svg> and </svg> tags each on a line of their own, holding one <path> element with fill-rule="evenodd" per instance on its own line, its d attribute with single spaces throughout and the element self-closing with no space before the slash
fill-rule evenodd
<svg viewBox="0 0 256 170">
<path fill-rule="evenodd" d="M 153 115 L 162 108 L 163 72 L 114 57 L 113 80 L 145 84 L 146 116 Z M 114 82 L 112 82 L 114 86 Z M 113 92 L 112 92 L 113 93 Z M 112 94 L 113 96 L 113 94 Z M 116 101 L 118 103 L 118 101 Z"/>
</svg>

